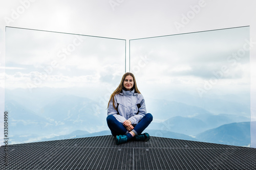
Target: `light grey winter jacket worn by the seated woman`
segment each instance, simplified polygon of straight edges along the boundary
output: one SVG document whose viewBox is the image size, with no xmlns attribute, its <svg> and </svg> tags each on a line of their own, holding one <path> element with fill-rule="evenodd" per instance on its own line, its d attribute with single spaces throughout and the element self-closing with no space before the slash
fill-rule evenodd
<svg viewBox="0 0 256 170">
<path fill-rule="evenodd" d="M 120 122 L 130 120 L 132 125 L 138 124 L 140 119 L 146 114 L 146 106 L 143 95 L 132 91 L 123 90 L 114 96 L 115 107 L 118 105 L 118 112 L 113 107 L 113 101 L 110 101 L 108 115 L 113 115 Z M 140 104 L 138 109 L 137 104 Z M 118 114 L 119 113 L 119 114 Z M 137 114 L 138 113 L 138 114 Z"/>
</svg>

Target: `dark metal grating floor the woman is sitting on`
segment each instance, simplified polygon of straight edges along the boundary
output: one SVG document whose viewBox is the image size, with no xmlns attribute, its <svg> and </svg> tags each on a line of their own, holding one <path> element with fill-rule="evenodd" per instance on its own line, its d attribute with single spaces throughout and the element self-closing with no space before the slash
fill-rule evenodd
<svg viewBox="0 0 256 170">
<path fill-rule="evenodd" d="M 109 135 L 4 149 L 1 169 L 256 169 L 254 148 L 161 137 L 116 145 Z"/>
</svg>

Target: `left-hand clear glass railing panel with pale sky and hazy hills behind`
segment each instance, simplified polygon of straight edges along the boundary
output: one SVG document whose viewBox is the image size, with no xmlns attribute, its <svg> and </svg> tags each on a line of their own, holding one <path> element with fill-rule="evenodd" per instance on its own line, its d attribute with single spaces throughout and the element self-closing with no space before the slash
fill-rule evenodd
<svg viewBox="0 0 256 170">
<path fill-rule="evenodd" d="M 110 134 L 106 107 L 124 65 L 123 39 L 7 27 L 9 144 Z"/>
</svg>

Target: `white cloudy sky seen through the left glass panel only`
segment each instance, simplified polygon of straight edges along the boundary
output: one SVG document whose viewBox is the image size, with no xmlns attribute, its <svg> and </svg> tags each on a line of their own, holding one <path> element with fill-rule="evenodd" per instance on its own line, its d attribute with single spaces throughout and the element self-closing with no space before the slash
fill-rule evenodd
<svg viewBox="0 0 256 170">
<path fill-rule="evenodd" d="M 125 40 L 15 28 L 6 37 L 7 89 L 100 87 L 125 71 Z"/>
</svg>

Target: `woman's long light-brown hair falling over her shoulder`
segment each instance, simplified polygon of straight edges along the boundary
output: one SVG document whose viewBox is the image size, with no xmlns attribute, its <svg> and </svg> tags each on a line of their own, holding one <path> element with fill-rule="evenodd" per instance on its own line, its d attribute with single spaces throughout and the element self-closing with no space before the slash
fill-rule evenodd
<svg viewBox="0 0 256 170">
<path fill-rule="evenodd" d="M 115 107 L 115 102 L 114 102 L 114 96 L 115 96 L 116 94 L 122 92 L 122 89 L 124 88 L 124 87 L 123 87 L 123 82 L 124 82 L 124 80 L 125 80 L 125 78 L 126 78 L 127 76 L 132 76 L 132 77 L 133 77 L 133 81 L 134 81 L 134 84 L 133 84 L 134 92 L 135 92 L 135 93 L 140 93 L 140 91 L 138 90 L 138 87 L 137 87 L 137 84 L 136 84 L 136 80 L 135 80 L 134 75 L 132 74 L 132 72 L 126 72 L 126 73 L 123 75 L 120 84 L 118 85 L 118 87 L 116 88 L 116 90 L 115 90 L 115 91 L 111 94 L 111 96 L 110 96 L 110 101 L 112 100 L 114 109 L 116 109 L 116 107 Z M 109 105 L 110 105 L 110 101 L 109 101 L 108 107 L 109 107 Z M 117 109 L 116 109 L 116 110 L 117 110 Z"/>
</svg>

